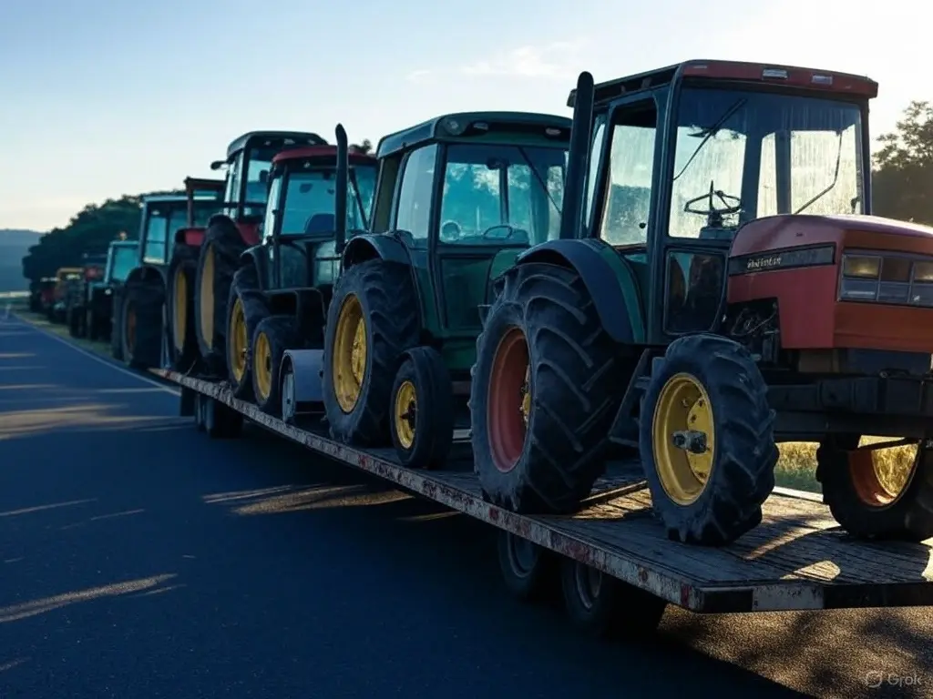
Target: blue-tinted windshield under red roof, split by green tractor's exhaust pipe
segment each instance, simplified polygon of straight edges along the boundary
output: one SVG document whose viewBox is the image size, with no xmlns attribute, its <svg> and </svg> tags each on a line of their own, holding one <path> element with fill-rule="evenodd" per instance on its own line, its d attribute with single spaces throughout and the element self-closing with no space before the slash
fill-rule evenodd
<svg viewBox="0 0 933 699">
<path fill-rule="evenodd" d="M 376 188 L 376 167 L 356 165 L 347 178 L 347 230 L 367 227 Z M 333 168 L 289 171 L 285 189 L 285 212 L 281 235 L 334 233 L 336 173 Z"/>
</svg>

